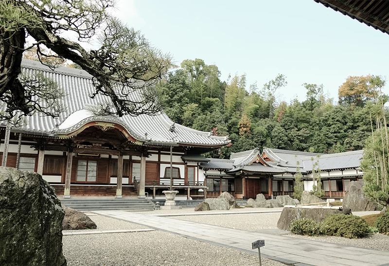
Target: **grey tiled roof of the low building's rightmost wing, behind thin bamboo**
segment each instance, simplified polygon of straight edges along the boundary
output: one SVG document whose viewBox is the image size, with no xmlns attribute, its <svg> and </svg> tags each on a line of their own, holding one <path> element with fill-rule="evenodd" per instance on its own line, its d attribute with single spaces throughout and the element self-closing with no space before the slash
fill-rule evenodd
<svg viewBox="0 0 389 266">
<path fill-rule="evenodd" d="M 336 169 L 350 169 L 358 168 L 360 160 L 363 156 L 363 150 L 335 153 L 321 155 L 320 157 L 314 157 L 314 162 L 318 160 L 318 167 L 320 170 L 336 170 Z M 304 170 L 312 171 L 311 157 L 303 159 Z"/>
</svg>

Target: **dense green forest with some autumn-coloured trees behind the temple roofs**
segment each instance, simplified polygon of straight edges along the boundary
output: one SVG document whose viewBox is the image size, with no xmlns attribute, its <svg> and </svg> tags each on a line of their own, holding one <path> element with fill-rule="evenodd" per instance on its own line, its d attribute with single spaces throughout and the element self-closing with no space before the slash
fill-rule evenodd
<svg viewBox="0 0 389 266">
<path fill-rule="evenodd" d="M 371 135 L 369 103 L 378 90 L 372 78 L 346 78 L 339 84 L 338 99 L 326 95 L 323 85 L 304 83 L 306 99 L 286 103 L 276 100 L 287 84 L 282 74 L 258 88 L 246 84 L 245 74 L 222 81 L 216 65 L 195 59 L 169 73 L 158 91 L 174 122 L 230 136 L 229 147 L 209 156 L 227 158 L 231 152 L 263 146 L 337 153 L 363 149 Z M 376 128 L 375 120 L 372 125 Z"/>
</svg>

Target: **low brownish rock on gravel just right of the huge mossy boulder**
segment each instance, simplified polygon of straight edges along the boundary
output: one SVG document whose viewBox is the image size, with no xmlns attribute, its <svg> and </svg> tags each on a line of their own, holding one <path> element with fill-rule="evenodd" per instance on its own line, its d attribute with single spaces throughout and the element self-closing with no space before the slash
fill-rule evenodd
<svg viewBox="0 0 389 266">
<path fill-rule="evenodd" d="M 62 221 L 63 230 L 96 229 L 97 226 L 86 214 L 65 207 L 65 217 Z"/>
</svg>

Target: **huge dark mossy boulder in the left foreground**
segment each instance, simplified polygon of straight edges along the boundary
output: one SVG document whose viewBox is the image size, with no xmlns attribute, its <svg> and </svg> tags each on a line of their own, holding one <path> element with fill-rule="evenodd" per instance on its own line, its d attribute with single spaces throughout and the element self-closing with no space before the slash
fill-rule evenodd
<svg viewBox="0 0 389 266">
<path fill-rule="evenodd" d="M 64 215 L 42 176 L 0 167 L 0 265 L 66 266 Z"/>
</svg>

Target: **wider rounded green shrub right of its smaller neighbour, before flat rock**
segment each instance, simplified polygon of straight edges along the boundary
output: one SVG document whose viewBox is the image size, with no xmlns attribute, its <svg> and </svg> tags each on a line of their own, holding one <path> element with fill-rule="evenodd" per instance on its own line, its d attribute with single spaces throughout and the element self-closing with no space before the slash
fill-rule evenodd
<svg viewBox="0 0 389 266">
<path fill-rule="evenodd" d="M 320 231 L 324 235 L 360 238 L 369 234 L 369 225 L 358 216 L 333 214 L 324 219 Z"/>
</svg>

